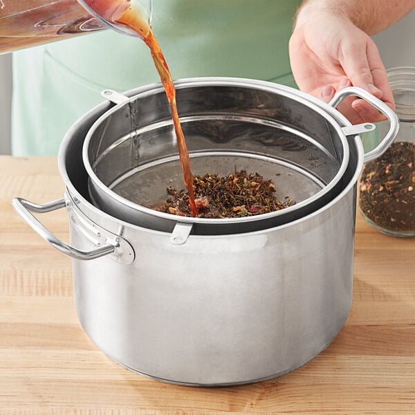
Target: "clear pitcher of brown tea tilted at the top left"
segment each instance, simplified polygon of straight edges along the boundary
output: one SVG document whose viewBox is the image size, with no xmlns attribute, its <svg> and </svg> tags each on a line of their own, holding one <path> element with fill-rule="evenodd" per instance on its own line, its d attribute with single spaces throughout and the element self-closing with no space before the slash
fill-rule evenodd
<svg viewBox="0 0 415 415">
<path fill-rule="evenodd" d="M 151 0 L 0 0 L 0 54 L 105 28 L 139 36 L 117 15 L 133 8 L 150 24 Z"/>
</svg>

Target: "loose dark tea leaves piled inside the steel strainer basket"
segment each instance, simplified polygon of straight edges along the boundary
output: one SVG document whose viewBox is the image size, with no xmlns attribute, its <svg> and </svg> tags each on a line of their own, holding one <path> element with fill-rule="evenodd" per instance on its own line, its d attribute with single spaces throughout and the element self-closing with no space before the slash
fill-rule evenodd
<svg viewBox="0 0 415 415">
<path fill-rule="evenodd" d="M 203 218 L 236 218 L 275 212 L 288 208 L 295 201 L 286 196 L 284 201 L 275 197 L 275 186 L 271 180 L 264 180 L 260 174 L 248 174 L 245 170 L 228 174 L 226 177 L 217 174 L 193 177 L 197 217 Z M 167 187 L 169 198 L 155 208 L 159 212 L 191 216 L 189 196 L 185 190 Z"/>
</svg>

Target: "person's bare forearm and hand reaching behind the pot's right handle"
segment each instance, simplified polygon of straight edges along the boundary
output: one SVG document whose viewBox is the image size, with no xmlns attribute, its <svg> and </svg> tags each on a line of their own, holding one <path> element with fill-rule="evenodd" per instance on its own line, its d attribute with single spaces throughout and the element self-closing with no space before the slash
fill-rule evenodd
<svg viewBox="0 0 415 415">
<path fill-rule="evenodd" d="M 289 45 L 299 89 L 329 102 L 335 91 L 360 86 L 394 108 L 385 67 L 369 35 L 414 8 L 415 0 L 304 0 Z M 359 99 L 349 98 L 339 109 L 353 123 L 382 119 Z"/>
</svg>

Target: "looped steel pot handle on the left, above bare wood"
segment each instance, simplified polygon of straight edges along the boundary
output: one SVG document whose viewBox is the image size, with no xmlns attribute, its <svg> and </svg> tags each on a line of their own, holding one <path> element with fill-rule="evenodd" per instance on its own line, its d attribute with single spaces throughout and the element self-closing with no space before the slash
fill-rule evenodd
<svg viewBox="0 0 415 415">
<path fill-rule="evenodd" d="M 46 229 L 42 223 L 40 223 L 32 212 L 35 213 L 46 213 L 53 212 L 53 210 L 58 210 L 66 206 L 65 199 L 59 199 L 57 201 L 44 203 L 43 205 L 38 205 L 37 203 L 32 203 L 26 201 L 26 199 L 21 199 L 16 197 L 12 200 L 12 206 L 15 208 L 16 212 L 28 223 L 30 228 L 32 228 L 40 237 L 42 237 L 47 243 L 49 243 L 53 248 L 56 248 L 60 252 L 63 252 L 68 257 L 75 259 L 95 259 L 103 257 L 104 255 L 109 255 L 114 250 L 116 250 L 116 245 L 107 243 L 103 246 L 95 248 L 90 251 L 82 251 L 74 248 L 71 245 L 68 245 L 61 239 L 57 238 L 50 230 Z"/>
</svg>

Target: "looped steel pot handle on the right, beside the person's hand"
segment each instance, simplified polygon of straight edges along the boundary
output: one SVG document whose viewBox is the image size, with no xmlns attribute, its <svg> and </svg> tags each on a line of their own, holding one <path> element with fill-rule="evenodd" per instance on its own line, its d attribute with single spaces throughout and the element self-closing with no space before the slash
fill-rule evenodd
<svg viewBox="0 0 415 415">
<path fill-rule="evenodd" d="M 371 93 L 365 91 L 365 89 L 358 88 L 357 86 L 349 86 L 336 93 L 333 99 L 329 102 L 331 107 L 338 107 L 338 104 L 349 96 L 356 96 L 362 98 L 378 109 L 389 121 L 389 131 L 387 131 L 385 137 L 380 141 L 377 147 L 368 151 L 365 154 L 364 162 L 367 163 L 375 158 L 381 156 L 388 149 L 389 145 L 394 141 L 399 131 L 399 119 L 396 113 L 390 109 L 385 102 L 382 102 Z"/>
</svg>

